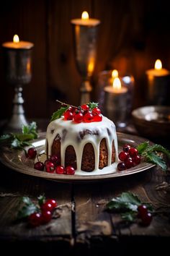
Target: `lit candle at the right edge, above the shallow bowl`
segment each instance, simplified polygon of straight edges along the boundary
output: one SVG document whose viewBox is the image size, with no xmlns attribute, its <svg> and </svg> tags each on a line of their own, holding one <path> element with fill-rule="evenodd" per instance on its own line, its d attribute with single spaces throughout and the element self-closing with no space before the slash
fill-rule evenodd
<svg viewBox="0 0 170 256">
<path fill-rule="evenodd" d="M 157 59 L 154 69 L 146 71 L 147 101 L 149 105 L 168 105 L 170 92 L 170 72 L 162 68 L 161 60 Z"/>
</svg>

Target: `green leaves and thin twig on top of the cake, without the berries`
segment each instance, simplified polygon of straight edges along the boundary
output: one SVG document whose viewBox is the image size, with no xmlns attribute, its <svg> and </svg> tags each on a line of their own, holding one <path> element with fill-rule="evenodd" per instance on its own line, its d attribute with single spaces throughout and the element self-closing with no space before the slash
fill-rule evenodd
<svg viewBox="0 0 170 256">
<path fill-rule="evenodd" d="M 58 101 L 58 100 L 57 100 Z M 58 109 L 58 111 L 55 111 L 53 113 L 53 115 L 51 116 L 50 121 L 54 121 L 55 119 L 59 119 L 61 118 L 61 116 L 63 116 L 64 112 L 67 111 L 67 109 L 71 106 L 72 108 L 75 108 L 76 110 L 81 110 L 81 106 L 73 106 L 67 103 L 63 103 L 62 101 L 58 101 L 59 103 L 61 103 L 61 108 Z M 87 106 L 89 106 L 90 110 L 93 110 L 94 108 L 97 108 L 99 103 L 95 103 L 95 102 L 89 102 L 86 103 Z M 65 107 L 63 107 L 65 106 Z"/>
</svg>

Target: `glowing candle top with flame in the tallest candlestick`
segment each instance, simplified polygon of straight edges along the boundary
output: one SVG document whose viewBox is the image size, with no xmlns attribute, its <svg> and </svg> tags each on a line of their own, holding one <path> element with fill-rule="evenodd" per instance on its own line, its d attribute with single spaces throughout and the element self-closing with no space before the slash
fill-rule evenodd
<svg viewBox="0 0 170 256">
<path fill-rule="evenodd" d="M 100 20 L 91 19 L 91 18 L 89 18 L 88 12 L 83 12 L 81 14 L 81 19 L 73 19 L 73 20 L 71 20 L 71 23 L 74 25 L 94 27 L 94 26 L 99 25 Z"/>
</svg>

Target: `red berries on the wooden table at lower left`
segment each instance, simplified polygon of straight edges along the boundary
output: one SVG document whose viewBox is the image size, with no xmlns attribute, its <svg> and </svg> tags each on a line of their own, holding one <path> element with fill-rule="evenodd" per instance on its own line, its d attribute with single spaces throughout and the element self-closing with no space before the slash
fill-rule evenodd
<svg viewBox="0 0 170 256">
<path fill-rule="evenodd" d="M 30 226 L 35 227 L 48 223 L 53 216 L 55 207 L 57 207 L 57 202 L 54 199 L 45 200 L 45 202 L 40 205 L 40 208 L 38 208 L 38 211 L 28 216 Z"/>
</svg>

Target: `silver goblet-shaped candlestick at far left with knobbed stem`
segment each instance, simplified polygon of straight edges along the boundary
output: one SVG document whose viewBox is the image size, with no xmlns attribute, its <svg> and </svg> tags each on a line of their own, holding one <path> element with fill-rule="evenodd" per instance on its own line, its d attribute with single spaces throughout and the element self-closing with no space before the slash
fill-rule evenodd
<svg viewBox="0 0 170 256">
<path fill-rule="evenodd" d="M 24 116 L 22 87 L 28 84 L 32 78 L 31 53 L 34 45 L 30 42 L 17 40 L 17 42 L 3 43 L 2 46 L 4 48 L 6 82 L 14 86 L 15 91 L 12 116 L 6 124 L 5 131 L 13 132 L 20 130 L 23 124 L 27 124 L 27 119 Z"/>
</svg>

